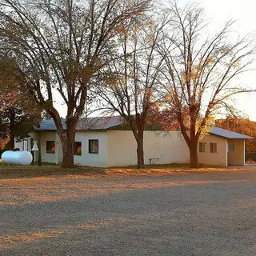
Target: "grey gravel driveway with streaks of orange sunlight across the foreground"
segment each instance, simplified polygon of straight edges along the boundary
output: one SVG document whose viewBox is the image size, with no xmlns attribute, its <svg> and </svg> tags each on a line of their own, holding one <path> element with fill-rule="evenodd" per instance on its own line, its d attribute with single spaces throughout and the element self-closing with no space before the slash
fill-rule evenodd
<svg viewBox="0 0 256 256">
<path fill-rule="evenodd" d="M 256 171 L 0 180 L 0 255 L 256 255 Z"/>
</svg>

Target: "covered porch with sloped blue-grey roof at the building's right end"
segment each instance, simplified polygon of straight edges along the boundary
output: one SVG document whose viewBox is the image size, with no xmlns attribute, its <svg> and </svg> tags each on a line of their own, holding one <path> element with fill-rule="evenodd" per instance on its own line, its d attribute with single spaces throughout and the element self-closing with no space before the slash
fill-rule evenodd
<svg viewBox="0 0 256 256">
<path fill-rule="evenodd" d="M 245 141 L 250 136 L 238 134 L 230 130 L 214 127 L 210 132 L 215 136 L 226 138 L 226 162 L 227 165 L 244 166 L 246 157 Z"/>
</svg>

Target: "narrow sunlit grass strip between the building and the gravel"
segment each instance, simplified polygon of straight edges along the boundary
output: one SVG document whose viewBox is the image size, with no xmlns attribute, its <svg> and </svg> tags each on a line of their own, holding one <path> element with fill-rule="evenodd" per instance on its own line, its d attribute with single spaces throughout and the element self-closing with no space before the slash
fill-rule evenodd
<svg viewBox="0 0 256 256">
<path fill-rule="evenodd" d="M 136 166 L 123 167 L 89 167 L 74 166 L 74 168 L 62 168 L 52 163 L 43 163 L 42 166 L 14 166 L 0 162 L 0 179 L 10 178 L 36 178 L 36 177 L 63 177 L 63 176 L 86 176 L 86 177 L 115 177 L 115 176 L 141 176 L 141 175 L 169 175 L 178 173 L 206 173 L 216 171 L 254 170 L 252 168 L 226 168 L 218 166 L 200 166 L 191 169 L 189 164 L 164 164 L 146 165 L 145 169 L 138 170 Z M 256 168 L 255 168 L 256 170 Z"/>
</svg>

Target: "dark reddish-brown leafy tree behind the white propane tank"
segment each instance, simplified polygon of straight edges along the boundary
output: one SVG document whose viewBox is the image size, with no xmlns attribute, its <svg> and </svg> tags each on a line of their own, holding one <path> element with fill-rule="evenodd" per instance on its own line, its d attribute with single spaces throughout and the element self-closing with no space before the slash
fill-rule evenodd
<svg viewBox="0 0 256 256">
<path fill-rule="evenodd" d="M 0 56 L 0 139 L 1 147 L 7 145 L 10 150 L 14 140 L 27 138 L 41 119 L 41 111 L 34 106 L 16 67 L 12 59 Z"/>
</svg>

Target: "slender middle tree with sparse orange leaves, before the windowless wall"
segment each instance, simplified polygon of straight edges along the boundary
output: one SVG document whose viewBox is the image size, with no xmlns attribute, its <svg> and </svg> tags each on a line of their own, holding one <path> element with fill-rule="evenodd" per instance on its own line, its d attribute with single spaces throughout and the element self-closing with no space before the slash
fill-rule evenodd
<svg viewBox="0 0 256 256">
<path fill-rule="evenodd" d="M 144 168 L 143 134 L 158 98 L 163 62 L 158 43 L 166 20 L 161 18 L 159 22 L 151 16 L 122 22 L 118 27 L 122 58 L 110 64 L 109 75 L 102 76 L 103 86 L 96 86 L 106 108 L 119 114 L 132 130 L 137 142 L 138 168 Z"/>
</svg>

